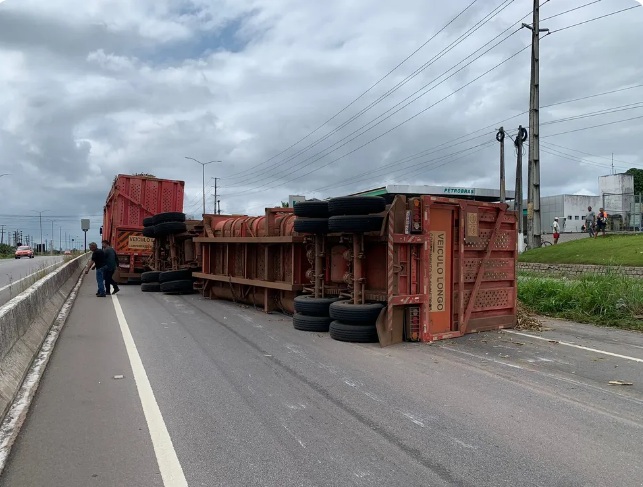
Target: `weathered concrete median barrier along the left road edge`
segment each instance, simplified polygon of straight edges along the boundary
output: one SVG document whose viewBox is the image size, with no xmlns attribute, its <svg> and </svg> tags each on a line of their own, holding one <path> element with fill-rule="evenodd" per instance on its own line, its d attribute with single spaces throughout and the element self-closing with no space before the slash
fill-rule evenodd
<svg viewBox="0 0 643 487">
<path fill-rule="evenodd" d="M 0 307 L 0 422 L 88 259 L 67 262 Z"/>
</svg>

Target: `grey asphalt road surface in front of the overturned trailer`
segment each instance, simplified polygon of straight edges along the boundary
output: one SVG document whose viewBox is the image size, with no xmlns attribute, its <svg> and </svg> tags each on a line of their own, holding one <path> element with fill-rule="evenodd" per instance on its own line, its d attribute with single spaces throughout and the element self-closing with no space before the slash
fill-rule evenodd
<svg viewBox="0 0 643 487">
<path fill-rule="evenodd" d="M 190 486 L 643 485 L 642 334 L 381 349 L 198 295 L 96 298 L 88 277 L 2 487 L 163 485 L 115 301 Z"/>
</svg>

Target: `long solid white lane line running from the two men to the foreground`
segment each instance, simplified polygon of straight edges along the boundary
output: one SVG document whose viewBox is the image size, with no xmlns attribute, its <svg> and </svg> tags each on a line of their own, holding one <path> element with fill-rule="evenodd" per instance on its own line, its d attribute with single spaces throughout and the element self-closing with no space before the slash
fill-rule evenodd
<svg viewBox="0 0 643 487">
<path fill-rule="evenodd" d="M 163 485 L 165 487 L 187 487 L 188 483 L 187 480 L 185 480 L 183 468 L 174 450 L 172 438 L 170 438 L 170 433 L 167 431 L 165 421 L 163 421 L 163 415 L 154 397 L 154 391 L 147 378 L 143 361 L 138 354 L 136 343 L 134 343 L 134 339 L 132 338 L 132 333 L 125 319 L 121 303 L 118 301 L 118 296 L 112 295 L 112 301 L 114 303 L 114 309 L 116 310 L 118 324 L 121 327 L 127 355 L 132 366 L 132 373 L 134 374 L 138 396 L 143 406 L 147 427 L 152 438 L 156 461 L 158 462 L 161 477 L 163 478 Z"/>
</svg>

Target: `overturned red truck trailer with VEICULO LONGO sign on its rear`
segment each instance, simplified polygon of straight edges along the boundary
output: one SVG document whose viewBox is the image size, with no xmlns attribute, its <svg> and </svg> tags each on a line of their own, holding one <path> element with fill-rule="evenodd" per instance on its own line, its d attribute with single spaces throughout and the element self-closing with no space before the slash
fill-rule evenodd
<svg viewBox="0 0 643 487">
<path fill-rule="evenodd" d="M 515 212 L 426 195 L 389 201 L 205 215 L 194 277 L 206 297 L 294 312 L 295 328 L 340 340 L 386 346 L 513 327 Z"/>
</svg>

